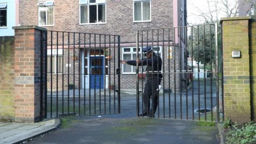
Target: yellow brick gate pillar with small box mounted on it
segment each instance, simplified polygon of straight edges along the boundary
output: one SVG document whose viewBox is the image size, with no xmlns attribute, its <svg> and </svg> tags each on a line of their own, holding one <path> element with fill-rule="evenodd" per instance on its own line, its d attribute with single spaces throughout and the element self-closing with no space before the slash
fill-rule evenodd
<svg viewBox="0 0 256 144">
<path fill-rule="evenodd" d="M 225 118 L 233 122 L 251 121 L 249 21 L 250 17 L 223 18 L 223 97 Z M 232 58 L 241 51 L 241 58 Z"/>
</svg>

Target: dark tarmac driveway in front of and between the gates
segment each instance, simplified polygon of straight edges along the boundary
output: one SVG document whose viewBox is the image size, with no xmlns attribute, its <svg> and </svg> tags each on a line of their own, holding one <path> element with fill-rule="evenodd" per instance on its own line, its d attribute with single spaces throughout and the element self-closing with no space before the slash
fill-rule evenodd
<svg viewBox="0 0 256 144">
<path fill-rule="evenodd" d="M 137 118 L 135 95 L 122 97 L 121 114 L 62 119 L 57 131 L 28 143 L 218 143 L 204 122 Z"/>
</svg>

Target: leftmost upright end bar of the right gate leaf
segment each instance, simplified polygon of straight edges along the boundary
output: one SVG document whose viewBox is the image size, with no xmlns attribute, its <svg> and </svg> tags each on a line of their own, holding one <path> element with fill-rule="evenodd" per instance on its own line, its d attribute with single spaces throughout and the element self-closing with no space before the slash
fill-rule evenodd
<svg viewBox="0 0 256 144">
<path fill-rule="evenodd" d="M 136 35 L 136 52 L 137 52 L 137 59 L 139 59 L 139 31 L 137 31 Z M 136 68 L 136 77 L 137 77 L 137 116 L 139 117 L 140 114 L 140 94 L 139 94 L 139 65 L 137 63 Z"/>
</svg>

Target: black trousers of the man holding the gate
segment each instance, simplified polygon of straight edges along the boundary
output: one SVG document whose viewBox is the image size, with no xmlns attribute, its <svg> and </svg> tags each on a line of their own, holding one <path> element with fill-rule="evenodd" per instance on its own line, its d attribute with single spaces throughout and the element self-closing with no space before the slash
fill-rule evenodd
<svg viewBox="0 0 256 144">
<path fill-rule="evenodd" d="M 158 81 L 157 81 L 158 80 Z M 157 77 L 148 78 L 143 92 L 143 103 L 144 103 L 144 113 L 148 113 L 150 115 L 154 115 L 156 113 L 157 105 L 158 105 L 158 84 L 160 83 L 160 79 Z M 150 109 L 150 98 L 151 98 L 151 109 Z"/>
</svg>

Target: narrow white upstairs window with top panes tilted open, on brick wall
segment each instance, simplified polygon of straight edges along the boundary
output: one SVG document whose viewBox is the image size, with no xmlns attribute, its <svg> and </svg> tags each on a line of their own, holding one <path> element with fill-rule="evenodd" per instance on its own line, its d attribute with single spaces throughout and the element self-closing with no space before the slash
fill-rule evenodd
<svg viewBox="0 0 256 144">
<path fill-rule="evenodd" d="M 53 1 L 39 1 L 38 2 L 38 25 L 39 26 L 53 26 Z"/>
</svg>

